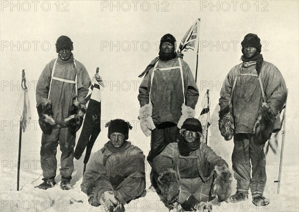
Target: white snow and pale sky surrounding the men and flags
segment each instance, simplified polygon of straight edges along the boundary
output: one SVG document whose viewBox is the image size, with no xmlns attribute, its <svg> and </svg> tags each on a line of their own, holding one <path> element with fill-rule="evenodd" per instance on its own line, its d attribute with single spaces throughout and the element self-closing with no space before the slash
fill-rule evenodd
<svg viewBox="0 0 299 212">
<path fill-rule="evenodd" d="M 298 145 L 298 1 L 4 1 L 0 12 L 0 211 L 99 211 L 88 204 L 81 192 L 83 158 L 74 159 L 74 190 L 63 191 L 56 185 L 46 191 L 33 187 L 42 182 L 40 168 L 41 130 L 35 109 L 35 86 L 45 65 L 57 54 L 55 42 L 60 35 L 74 42 L 74 57 L 87 68 L 90 77 L 100 67 L 108 85 L 102 91 L 102 126 L 111 119 L 123 118 L 133 125 L 129 140 L 148 155 L 150 138 L 138 122 L 138 75 L 157 56 L 158 41 L 166 33 L 177 39 L 177 45 L 197 18 L 200 22 L 200 49 L 197 85 L 201 101 L 210 89 L 211 118 L 208 145 L 231 167 L 233 141 L 224 141 L 217 129 L 218 99 L 222 82 L 229 70 L 240 63 L 241 41 L 247 33 L 261 38 L 264 60 L 276 65 L 289 89 L 286 139 L 280 194 L 277 194 L 280 143 L 278 153 L 267 156 L 267 185 L 264 195 L 271 204 L 255 207 L 242 204 L 214 206 L 213 211 L 299 211 L 299 145 Z M 148 10 L 148 11 L 147 11 Z M 234 46 L 235 44 L 235 46 Z M 196 56 L 185 54 L 194 69 Z M 190 53 L 192 55 L 192 53 Z M 29 83 L 32 120 L 22 135 L 20 191 L 16 191 L 18 157 L 18 117 L 15 106 L 20 94 L 21 70 Z M 77 132 L 77 139 L 80 131 Z M 108 141 L 102 127 L 93 152 Z M 60 160 L 60 151 L 57 151 Z M 149 164 L 146 162 L 147 188 Z M 236 182 L 233 182 L 235 188 Z M 233 193 L 235 189 L 233 190 Z M 73 204 L 71 204 L 70 200 Z M 76 202 L 82 201 L 83 203 Z M 128 212 L 167 211 L 156 193 L 125 206 Z"/>
</svg>

